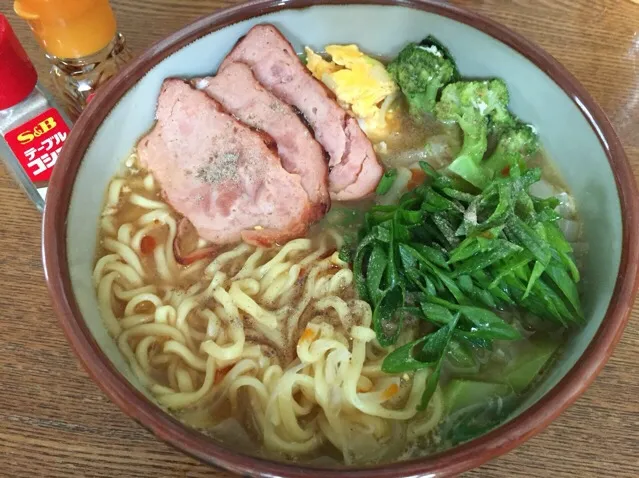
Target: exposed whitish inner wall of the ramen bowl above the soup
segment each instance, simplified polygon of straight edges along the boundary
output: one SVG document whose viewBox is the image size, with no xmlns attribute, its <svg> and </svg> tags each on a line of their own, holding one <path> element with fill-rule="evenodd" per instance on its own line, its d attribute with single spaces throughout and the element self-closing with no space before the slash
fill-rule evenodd
<svg viewBox="0 0 639 478">
<path fill-rule="evenodd" d="M 353 19 L 357 19 L 354 21 Z M 592 247 L 587 256 L 583 306 L 587 325 L 574 335 L 559 363 L 528 396 L 516 416 L 539 400 L 572 368 L 590 343 L 610 302 L 621 256 L 621 210 L 604 150 L 575 103 L 524 56 L 470 26 L 438 15 L 391 6 L 314 6 L 243 21 L 206 35 L 174 53 L 128 91 L 99 127 L 80 166 L 67 226 L 71 283 L 86 324 L 115 367 L 152 399 L 130 371 L 98 313 L 92 285 L 98 219 L 110 178 L 137 139 L 153 124 L 157 95 L 166 77 L 215 72 L 237 39 L 262 22 L 275 24 L 298 51 L 330 43 L 356 43 L 364 51 L 393 55 L 407 42 L 435 35 L 452 52 L 462 75 L 501 77 L 511 92 L 511 108 L 534 124 L 568 183 Z"/>
</svg>

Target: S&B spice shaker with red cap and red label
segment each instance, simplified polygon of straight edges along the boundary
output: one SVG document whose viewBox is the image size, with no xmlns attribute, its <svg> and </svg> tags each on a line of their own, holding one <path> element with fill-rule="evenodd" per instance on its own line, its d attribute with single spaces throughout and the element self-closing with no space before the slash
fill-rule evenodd
<svg viewBox="0 0 639 478">
<path fill-rule="evenodd" d="M 0 14 L 0 157 L 42 211 L 71 124 L 38 83 L 27 53 Z"/>
</svg>

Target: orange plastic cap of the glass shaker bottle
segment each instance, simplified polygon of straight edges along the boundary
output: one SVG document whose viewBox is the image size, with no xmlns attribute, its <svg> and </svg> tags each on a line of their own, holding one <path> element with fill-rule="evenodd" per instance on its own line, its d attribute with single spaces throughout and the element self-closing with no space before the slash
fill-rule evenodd
<svg viewBox="0 0 639 478">
<path fill-rule="evenodd" d="M 16 0 L 13 8 L 46 52 L 58 58 L 93 55 L 116 33 L 108 0 Z"/>
</svg>

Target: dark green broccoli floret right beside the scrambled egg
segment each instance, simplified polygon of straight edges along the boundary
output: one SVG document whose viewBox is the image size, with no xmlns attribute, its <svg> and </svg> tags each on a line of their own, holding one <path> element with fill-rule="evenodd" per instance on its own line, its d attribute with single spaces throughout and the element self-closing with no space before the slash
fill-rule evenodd
<svg viewBox="0 0 639 478">
<path fill-rule="evenodd" d="M 417 117 L 432 113 L 439 91 L 459 78 L 449 51 L 432 36 L 408 44 L 388 65 L 388 72 Z"/>
</svg>

